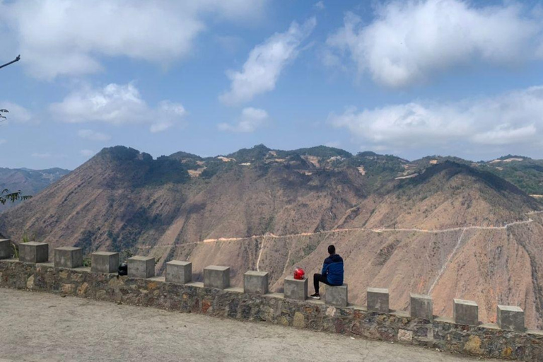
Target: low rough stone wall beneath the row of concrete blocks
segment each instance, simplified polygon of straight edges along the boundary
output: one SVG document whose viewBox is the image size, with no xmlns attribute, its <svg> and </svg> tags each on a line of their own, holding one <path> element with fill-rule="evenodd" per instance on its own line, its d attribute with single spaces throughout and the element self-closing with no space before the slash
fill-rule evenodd
<svg viewBox="0 0 543 362">
<path fill-rule="evenodd" d="M 267 322 L 319 332 L 415 344 L 457 354 L 520 361 L 543 361 L 543 332 L 512 332 L 495 325 L 457 325 L 425 320 L 409 313 L 370 312 L 365 307 L 336 307 L 322 300 L 292 300 L 282 293 L 244 293 L 243 288 L 206 288 L 163 278 L 132 278 L 78 267 L 0 260 L 0 287 L 59 293 L 114 303 L 143 305 L 181 313 Z"/>
</svg>

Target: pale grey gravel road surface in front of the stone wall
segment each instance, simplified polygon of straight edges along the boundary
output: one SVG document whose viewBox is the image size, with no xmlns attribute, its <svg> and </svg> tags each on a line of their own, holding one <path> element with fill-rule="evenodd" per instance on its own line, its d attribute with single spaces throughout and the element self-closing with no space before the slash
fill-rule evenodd
<svg viewBox="0 0 543 362">
<path fill-rule="evenodd" d="M 416 346 L 0 289 L 0 362 L 472 361 Z"/>
</svg>

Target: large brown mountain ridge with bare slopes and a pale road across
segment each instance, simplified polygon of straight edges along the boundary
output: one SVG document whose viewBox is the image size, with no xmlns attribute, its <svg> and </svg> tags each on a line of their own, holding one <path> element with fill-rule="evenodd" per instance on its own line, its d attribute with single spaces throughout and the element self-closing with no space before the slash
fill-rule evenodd
<svg viewBox="0 0 543 362">
<path fill-rule="evenodd" d="M 398 309 L 410 292 L 431 293 L 439 315 L 465 298 L 479 303 L 481 320 L 494 319 L 496 303 L 520 305 L 527 325 L 542 327 L 542 176 L 543 161 L 522 156 L 409 162 L 259 145 L 153 159 L 116 146 L 6 211 L 0 233 L 153 255 L 157 271 L 189 259 L 197 277 L 225 264 L 233 284 L 247 269 L 269 271 L 275 291 L 295 266 L 320 269 L 334 243 L 354 303 L 368 286 L 389 288 Z"/>
</svg>

